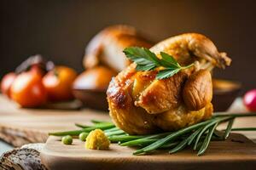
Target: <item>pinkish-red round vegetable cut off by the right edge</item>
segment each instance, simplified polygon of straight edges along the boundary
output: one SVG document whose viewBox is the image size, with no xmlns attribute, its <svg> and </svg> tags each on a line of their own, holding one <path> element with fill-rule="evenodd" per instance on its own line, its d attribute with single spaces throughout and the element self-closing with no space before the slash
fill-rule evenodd
<svg viewBox="0 0 256 170">
<path fill-rule="evenodd" d="M 244 95 L 243 103 L 249 111 L 256 111 L 256 89 L 250 90 Z"/>
</svg>

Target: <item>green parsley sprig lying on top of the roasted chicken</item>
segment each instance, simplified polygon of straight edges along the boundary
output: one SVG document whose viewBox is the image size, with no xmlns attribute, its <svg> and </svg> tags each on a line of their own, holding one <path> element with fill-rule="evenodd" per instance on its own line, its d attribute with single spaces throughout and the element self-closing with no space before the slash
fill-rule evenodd
<svg viewBox="0 0 256 170">
<path fill-rule="evenodd" d="M 177 72 L 188 69 L 194 64 L 181 66 L 172 55 L 160 52 L 161 59 L 159 59 L 148 48 L 130 47 L 125 48 L 124 53 L 128 59 L 131 59 L 137 64 L 137 71 L 153 71 L 158 67 L 162 67 L 156 79 L 165 79 L 172 77 Z"/>
</svg>

